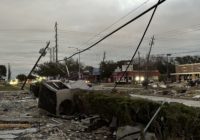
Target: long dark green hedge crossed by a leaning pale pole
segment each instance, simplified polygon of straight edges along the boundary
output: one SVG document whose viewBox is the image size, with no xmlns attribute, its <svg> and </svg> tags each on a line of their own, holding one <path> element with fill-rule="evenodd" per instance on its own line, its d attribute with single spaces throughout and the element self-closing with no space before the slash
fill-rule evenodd
<svg viewBox="0 0 200 140">
<path fill-rule="evenodd" d="M 74 99 L 82 113 L 99 114 L 108 120 L 116 116 L 119 126 L 136 122 L 146 125 L 160 106 L 149 100 L 96 92 L 77 93 Z M 200 134 L 200 109 L 165 104 L 148 130 L 155 132 L 159 139 L 196 139 Z"/>
</svg>

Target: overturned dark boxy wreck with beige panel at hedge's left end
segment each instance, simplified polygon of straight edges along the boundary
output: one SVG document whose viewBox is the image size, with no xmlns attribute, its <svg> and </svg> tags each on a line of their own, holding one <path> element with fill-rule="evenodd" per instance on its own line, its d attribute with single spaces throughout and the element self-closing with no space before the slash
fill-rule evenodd
<svg viewBox="0 0 200 140">
<path fill-rule="evenodd" d="M 74 111 L 73 93 L 59 80 L 41 84 L 38 107 L 54 115 L 72 114 Z"/>
</svg>

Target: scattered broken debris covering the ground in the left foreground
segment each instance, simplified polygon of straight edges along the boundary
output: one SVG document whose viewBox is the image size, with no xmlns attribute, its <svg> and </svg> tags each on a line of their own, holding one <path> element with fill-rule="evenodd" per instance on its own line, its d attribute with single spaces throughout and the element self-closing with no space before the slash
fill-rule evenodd
<svg viewBox="0 0 200 140">
<path fill-rule="evenodd" d="M 28 93 L 0 92 L 0 139 L 113 139 L 104 124 L 98 115 L 52 117 Z"/>
</svg>

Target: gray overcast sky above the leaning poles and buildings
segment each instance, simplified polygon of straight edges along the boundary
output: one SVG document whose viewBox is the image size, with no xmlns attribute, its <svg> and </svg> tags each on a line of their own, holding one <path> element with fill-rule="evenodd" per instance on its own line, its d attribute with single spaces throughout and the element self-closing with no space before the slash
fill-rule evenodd
<svg viewBox="0 0 200 140">
<path fill-rule="evenodd" d="M 63 59 L 75 52 L 75 49 L 68 47 L 87 47 L 156 2 L 157 0 L 0 0 L 0 64 L 10 63 L 13 77 L 19 73 L 27 74 L 46 41 L 51 40 L 51 47 L 55 45 L 55 21 L 58 22 L 59 29 L 59 59 Z M 140 8 L 136 9 L 137 7 Z M 133 12 L 120 22 L 82 45 L 130 11 Z M 147 53 L 150 38 L 155 35 L 153 54 L 197 51 L 190 55 L 198 55 L 199 11 L 199 0 L 166 0 L 157 9 L 139 50 L 141 54 Z M 129 59 L 150 14 L 81 54 L 81 61 L 86 65 L 97 66 L 103 57 L 103 51 L 106 51 L 107 60 Z M 48 60 L 49 55 L 42 62 Z"/>
</svg>

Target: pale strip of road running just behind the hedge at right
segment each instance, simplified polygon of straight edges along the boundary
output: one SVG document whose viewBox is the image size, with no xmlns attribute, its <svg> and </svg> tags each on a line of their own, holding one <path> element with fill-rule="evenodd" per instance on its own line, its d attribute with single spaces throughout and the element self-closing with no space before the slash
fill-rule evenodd
<svg viewBox="0 0 200 140">
<path fill-rule="evenodd" d="M 194 101 L 194 100 L 187 100 L 187 99 L 177 99 L 177 98 L 169 98 L 169 97 L 158 97 L 158 96 L 146 96 L 146 95 L 136 95 L 136 94 L 130 94 L 133 98 L 143 98 L 148 99 L 152 101 L 165 101 L 165 102 L 176 102 L 176 103 L 182 103 L 187 106 L 193 106 L 193 107 L 200 107 L 200 101 Z"/>
</svg>

